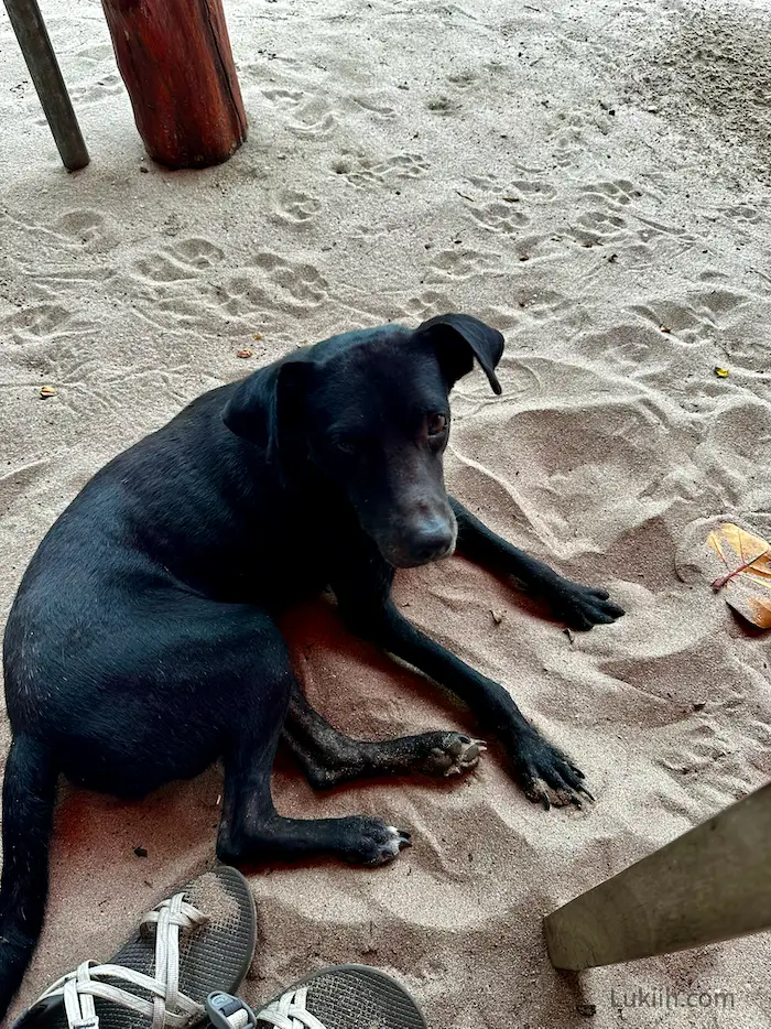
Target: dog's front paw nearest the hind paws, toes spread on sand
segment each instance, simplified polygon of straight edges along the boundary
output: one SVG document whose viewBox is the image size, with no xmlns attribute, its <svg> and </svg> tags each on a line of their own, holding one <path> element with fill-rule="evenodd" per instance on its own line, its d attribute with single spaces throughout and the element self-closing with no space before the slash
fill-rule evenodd
<svg viewBox="0 0 771 1029">
<path fill-rule="evenodd" d="M 514 746 L 514 776 L 528 800 L 546 811 L 552 805 L 583 808 L 585 800 L 594 800 L 584 786 L 584 772 L 535 729 L 520 736 Z"/>
</svg>

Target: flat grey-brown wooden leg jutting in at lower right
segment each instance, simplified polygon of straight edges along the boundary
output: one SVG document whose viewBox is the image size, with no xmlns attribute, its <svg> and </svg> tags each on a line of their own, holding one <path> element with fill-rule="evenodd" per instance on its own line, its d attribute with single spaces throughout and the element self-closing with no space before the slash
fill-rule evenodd
<svg viewBox="0 0 771 1029">
<path fill-rule="evenodd" d="M 557 968 L 591 968 L 771 929 L 771 784 L 544 920 Z"/>
</svg>

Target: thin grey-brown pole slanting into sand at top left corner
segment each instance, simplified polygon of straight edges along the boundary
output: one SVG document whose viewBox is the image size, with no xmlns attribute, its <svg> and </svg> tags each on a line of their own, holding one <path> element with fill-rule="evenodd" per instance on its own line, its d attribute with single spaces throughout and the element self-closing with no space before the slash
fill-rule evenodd
<svg viewBox="0 0 771 1029">
<path fill-rule="evenodd" d="M 88 151 L 37 0 L 6 0 L 6 10 L 64 166 L 78 172 L 88 164 Z"/>
</svg>

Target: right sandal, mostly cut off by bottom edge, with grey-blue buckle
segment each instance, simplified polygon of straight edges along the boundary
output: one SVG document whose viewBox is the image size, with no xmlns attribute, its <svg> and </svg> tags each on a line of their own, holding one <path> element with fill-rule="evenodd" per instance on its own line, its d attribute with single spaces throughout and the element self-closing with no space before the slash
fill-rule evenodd
<svg viewBox="0 0 771 1029">
<path fill-rule="evenodd" d="M 211 994 L 215 1029 L 427 1029 L 403 986 L 365 965 L 336 965 L 306 976 L 256 1014 L 242 1000 Z"/>
</svg>

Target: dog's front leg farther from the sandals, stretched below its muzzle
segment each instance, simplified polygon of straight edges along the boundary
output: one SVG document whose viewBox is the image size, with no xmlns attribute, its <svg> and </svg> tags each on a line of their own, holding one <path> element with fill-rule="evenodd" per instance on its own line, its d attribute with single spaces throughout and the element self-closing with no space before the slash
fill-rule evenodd
<svg viewBox="0 0 771 1029">
<path fill-rule="evenodd" d="M 613 604 L 605 589 L 582 586 L 565 578 L 547 564 L 496 535 L 455 497 L 450 497 L 449 502 L 458 522 L 458 548 L 471 561 L 493 572 L 511 575 L 529 593 L 542 597 L 554 615 L 572 629 L 608 625 L 623 615 L 623 608 Z"/>
</svg>

